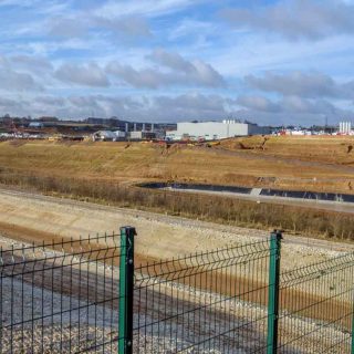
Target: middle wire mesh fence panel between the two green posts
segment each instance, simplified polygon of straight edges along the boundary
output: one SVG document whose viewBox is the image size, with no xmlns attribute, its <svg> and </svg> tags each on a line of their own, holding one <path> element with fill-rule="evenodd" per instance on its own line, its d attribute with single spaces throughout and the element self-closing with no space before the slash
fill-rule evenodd
<svg viewBox="0 0 354 354">
<path fill-rule="evenodd" d="M 267 337 L 268 240 L 135 270 L 134 353 L 256 353 Z"/>
</svg>

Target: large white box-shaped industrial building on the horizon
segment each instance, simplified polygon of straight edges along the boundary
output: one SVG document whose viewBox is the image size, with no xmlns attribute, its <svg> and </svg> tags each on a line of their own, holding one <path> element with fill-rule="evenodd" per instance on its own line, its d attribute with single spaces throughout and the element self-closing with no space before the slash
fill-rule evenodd
<svg viewBox="0 0 354 354">
<path fill-rule="evenodd" d="M 235 136 L 269 133 L 268 127 L 225 119 L 222 122 L 177 123 L 177 131 L 166 132 L 166 139 L 217 140 Z"/>
</svg>

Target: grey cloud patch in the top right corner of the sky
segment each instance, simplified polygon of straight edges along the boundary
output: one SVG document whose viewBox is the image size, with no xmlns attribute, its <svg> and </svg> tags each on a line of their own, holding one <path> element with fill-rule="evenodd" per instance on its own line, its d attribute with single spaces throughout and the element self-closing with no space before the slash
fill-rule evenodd
<svg viewBox="0 0 354 354">
<path fill-rule="evenodd" d="M 263 7 L 222 11 L 237 28 L 269 31 L 290 40 L 319 40 L 354 33 L 354 7 L 332 0 L 287 0 Z"/>
</svg>

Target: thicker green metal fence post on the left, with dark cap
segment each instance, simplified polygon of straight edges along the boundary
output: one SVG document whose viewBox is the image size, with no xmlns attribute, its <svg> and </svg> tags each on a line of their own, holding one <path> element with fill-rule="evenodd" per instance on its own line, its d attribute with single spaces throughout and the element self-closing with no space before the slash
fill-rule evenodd
<svg viewBox="0 0 354 354">
<path fill-rule="evenodd" d="M 135 228 L 121 228 L 118 354 L 133 353 Z"/>
</svg>

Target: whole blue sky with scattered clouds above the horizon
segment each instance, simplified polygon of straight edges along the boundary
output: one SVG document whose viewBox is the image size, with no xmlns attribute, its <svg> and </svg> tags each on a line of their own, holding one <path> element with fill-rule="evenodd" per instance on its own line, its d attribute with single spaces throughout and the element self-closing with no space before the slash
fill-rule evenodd
<svg viewBox="0 0 354 354">
<path fill-rule="evenodd" d="M 354 121 L 354 0 L 0 0 L 0 115 Z"/>
</svg>

